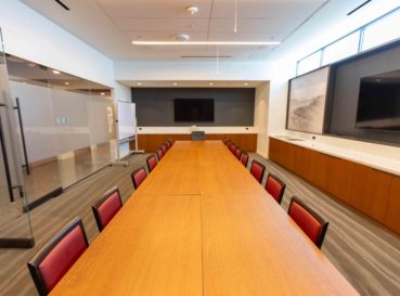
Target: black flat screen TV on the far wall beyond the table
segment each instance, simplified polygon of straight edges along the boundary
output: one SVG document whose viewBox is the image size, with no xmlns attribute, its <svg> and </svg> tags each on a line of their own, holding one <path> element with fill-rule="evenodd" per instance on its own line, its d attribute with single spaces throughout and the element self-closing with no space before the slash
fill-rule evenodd
<svg viewBox="0 0 400 296">
<path fill-rule="evenodd" d="M 214 99 L 175 99 L 175 121 L 214 121 Z"/>
</svg>

